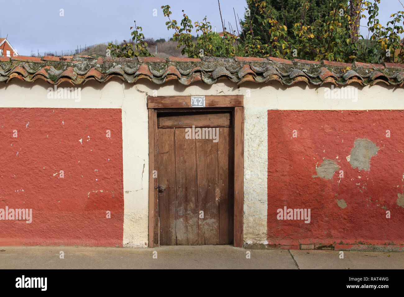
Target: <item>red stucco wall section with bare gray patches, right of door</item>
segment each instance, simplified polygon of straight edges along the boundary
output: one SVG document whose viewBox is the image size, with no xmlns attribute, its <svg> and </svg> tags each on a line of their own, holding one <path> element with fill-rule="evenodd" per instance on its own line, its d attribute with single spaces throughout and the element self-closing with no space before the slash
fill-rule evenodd
<svg viewBox="0 0 404 297">
<path fill-rule="evenodd" d="M 346 158 L 356 139 L 379 147 L 368 170 Z M 316 177 L 324 158 L 340 167 L 331 179 Z M 269 244 L 403 244 L 403 192 L 404 111 L 268 111 Z M 310 223 L 278 220 L 284 206 Z"/>
</svg>

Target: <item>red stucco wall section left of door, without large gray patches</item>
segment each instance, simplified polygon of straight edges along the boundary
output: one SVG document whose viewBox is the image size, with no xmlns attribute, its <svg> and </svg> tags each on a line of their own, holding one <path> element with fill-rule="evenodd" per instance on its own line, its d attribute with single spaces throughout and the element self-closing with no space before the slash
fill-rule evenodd
<svg viewBox="0 0 404 297">
<path fill-rule="evenodd" d="M 32 223 L 0 220 L 0 245 L 121 246 L 121 110 L 0 108 L 5 206 L 32 209 Z"/>
</svg>

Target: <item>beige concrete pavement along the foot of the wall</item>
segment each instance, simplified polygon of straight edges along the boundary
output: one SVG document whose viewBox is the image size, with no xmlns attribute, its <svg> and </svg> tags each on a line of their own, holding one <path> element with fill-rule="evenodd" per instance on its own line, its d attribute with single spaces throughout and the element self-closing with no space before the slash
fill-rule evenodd
<svg viewBox="0 0 404 297">
<path fill-rule="evenodd" d="M 5 251 L 1 251 L 5 250 Z M 63 252 L 64 259 L 60 258 Z M 155 253 L 157 252 L 157 253 Z M 250 258 L 247 258 L 248 253 Z M 248 250 L 234 246 L 154 249 L 0 247 L 0 269 L 403 269 L 404 252 Z"/>
</svg>

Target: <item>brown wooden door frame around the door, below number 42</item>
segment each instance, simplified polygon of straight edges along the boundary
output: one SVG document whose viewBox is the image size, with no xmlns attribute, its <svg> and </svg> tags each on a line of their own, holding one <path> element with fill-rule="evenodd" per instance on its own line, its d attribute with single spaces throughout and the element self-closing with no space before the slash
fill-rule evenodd
<svg viewBox="0 0 404 297">
<path fill-rule="evenodd" d="M 205 107 L 191 107 L 191 96 L 148 96 L 149 112 L 149 247 L 158 246 L 157 203 L 158 184 L 153 171 L 158 174 L 157 164 L 157 112 L 213 110 L 219 107 L 233 111 L 234 126 L 234 246 L 243 245 L 244 214 L 244 102 L 243 95 L 205 96 Z M 155 240 L 157 239 L 157 242 Z"/>
</svg>

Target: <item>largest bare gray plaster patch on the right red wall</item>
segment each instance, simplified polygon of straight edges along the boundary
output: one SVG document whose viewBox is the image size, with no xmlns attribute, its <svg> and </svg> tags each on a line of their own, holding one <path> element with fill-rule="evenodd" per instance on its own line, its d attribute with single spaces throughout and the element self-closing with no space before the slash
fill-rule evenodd
<svg viewBox="0 0 404 297">
<path fill-rule="evenodd" d="M 353 143 L 349 163 L 359 170 L 370 169 L 370 158 L 377 154 L 379 147 L 369 139 L 357 138 Z"/>
</svg>

